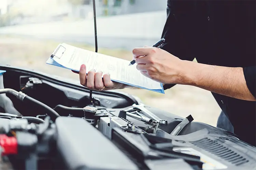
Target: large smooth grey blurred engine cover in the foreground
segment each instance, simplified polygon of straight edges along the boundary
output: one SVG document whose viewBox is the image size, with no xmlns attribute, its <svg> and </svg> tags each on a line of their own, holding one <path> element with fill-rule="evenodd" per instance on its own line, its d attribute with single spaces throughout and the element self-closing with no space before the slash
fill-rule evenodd
<svg viewBox="0 0 256 170">
<path fill-rule="evenodd" d="M 138 169 L 86 120 L 58 117 L 55 123 L 57 150 L 64 159 L 65 169 Z"/>
</svg>

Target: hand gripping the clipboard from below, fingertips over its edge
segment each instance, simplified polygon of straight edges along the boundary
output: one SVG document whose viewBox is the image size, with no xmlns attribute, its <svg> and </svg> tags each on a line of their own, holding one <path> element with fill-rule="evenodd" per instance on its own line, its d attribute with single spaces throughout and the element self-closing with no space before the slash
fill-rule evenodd
<svg viewBox="0 0 256 170">
<path fill-rule="evenodd" d="M 80 67 L 79 78 L 80 84 L 90 90 L 103 91 L 129 87 L 126 84 L 111 81 L 109 74 L 104 74 L 102 78 L 102 72 L 95 72 L 95 70 L 90 70 L 86 77 L 86 66 L 84 64 Z"/>
</svg>

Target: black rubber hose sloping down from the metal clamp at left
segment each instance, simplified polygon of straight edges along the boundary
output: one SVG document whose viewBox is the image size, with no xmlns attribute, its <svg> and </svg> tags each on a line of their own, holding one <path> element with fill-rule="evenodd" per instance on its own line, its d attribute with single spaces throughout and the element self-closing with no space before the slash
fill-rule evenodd
<svg viewBox="0 0 256 170">
<path fill-rule="evenodd" d="M 51 117 L 51 119 L 53 121 L 55 121 L 56 118 L 60 116 L 54 109 L 52 109 L 51 107 L 47 106 L 46 104 L 44 104 L 38 100 L 33 99 L 32 97 L 26 96 L 23 99 L 23 102 L 30 104 L 30 105 L 37 104 L 39 106 L 39 108 L 45 110 L 45 112 Z"/>
</svg>

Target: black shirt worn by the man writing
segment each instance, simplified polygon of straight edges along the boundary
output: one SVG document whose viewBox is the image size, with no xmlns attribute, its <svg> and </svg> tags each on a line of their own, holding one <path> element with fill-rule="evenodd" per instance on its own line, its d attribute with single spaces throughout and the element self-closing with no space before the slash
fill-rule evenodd
<svg viewBox="0 0 256 170">
<path fill-rule="evenodd" d="M 161 48 L 182 60 L 242 67 L 247 87 L 256 97 L 255 6 L 255 0 L 168 0 L 162 33 L 166 43 Z M 234 133 L 256 146 L 256 102 L 212 94 Z"/>
</svg>

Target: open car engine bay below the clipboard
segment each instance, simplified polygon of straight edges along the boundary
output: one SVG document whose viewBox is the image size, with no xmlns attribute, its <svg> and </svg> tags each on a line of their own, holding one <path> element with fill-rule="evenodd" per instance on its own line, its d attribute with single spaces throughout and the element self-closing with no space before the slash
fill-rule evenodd
<svg viewBox="0 0 256 170">
<path fill-rule="evenodd" d="M 239 136 L 117 91 L 1 66 L 0 169 L 256 169 Z M 159 120 L 160 119 L 160 120 Z"/>
</svg>

